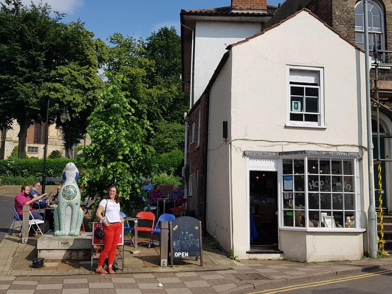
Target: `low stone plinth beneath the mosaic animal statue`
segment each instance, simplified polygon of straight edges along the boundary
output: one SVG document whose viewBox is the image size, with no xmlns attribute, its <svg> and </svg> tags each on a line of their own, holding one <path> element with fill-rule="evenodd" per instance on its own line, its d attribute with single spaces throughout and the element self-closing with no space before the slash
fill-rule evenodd
<svg viewBox="0 0 392 294">
<path fill-rule="evenodd" d="M 45 260 L 90 260 L 91 238 L 91 232 L 61 237 L 47 233 L 38 239 L 38 257 Z"/>
</svg>

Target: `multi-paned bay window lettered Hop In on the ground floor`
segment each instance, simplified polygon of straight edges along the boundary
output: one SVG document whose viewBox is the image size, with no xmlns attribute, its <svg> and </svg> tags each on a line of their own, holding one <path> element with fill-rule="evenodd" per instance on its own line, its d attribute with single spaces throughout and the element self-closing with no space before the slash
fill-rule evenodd
<svg viewBox="0 0 392 294">
<path fill-rule="evenodd" d="M 283 226 L 358 228 L 354 159 L 283 159 Z"/>
</svg>

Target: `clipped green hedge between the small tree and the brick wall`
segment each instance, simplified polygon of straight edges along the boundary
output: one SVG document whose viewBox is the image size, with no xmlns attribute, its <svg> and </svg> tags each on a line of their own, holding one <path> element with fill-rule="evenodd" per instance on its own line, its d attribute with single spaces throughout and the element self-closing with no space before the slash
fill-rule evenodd
<svg viewBox="0 0 392 294">
<path fill-rule="evenodd" d="M 168 153 L 157 155 L 155 159 L 156 173 L 165 172 L 180 177 L 183 162 L 184 152 L 181 150 L 172 150 Z"/>
</svg>

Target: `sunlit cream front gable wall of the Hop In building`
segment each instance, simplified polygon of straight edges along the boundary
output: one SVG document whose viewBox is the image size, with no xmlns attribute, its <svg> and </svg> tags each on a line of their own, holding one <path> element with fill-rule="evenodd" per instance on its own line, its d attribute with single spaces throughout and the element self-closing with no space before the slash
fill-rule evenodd
<svg viewBox="0 0 392 294">
<path fill-rule="evenodd" d="M 367 153 L 365 149 L 357 147 L 367 145 L 364 58 L 362 52 L 354 49 L 307 12 L 301 12 L 264 34 L 232 48 L 231 59 L 227 61 L 232 62 L 230 99 L 232 123 L 229 122 L 229 134 L 231 140 L 236 140 L 232 142 L 231 148 L 231 193 L 233 207 L 235 207 L 234 251 L 240 258 L 246 258 L 245 251 L 250 247 L 247 224 L 248 169 L 244 150 L 276 152 L 321 150 L 361 153 L 363 156 L 359 171 L 361 183 L 358 187 L 362 199 L 361 227 L 367 227 Z M 285 126 L 288 104 L 287 65 L 324 69 L 326 128 Z M 229 68 L 223 69 L 219 78 L 228 77 L 226 70 Z M 213 87 L 212 97 L 218 95 L 220 95 L 218 89 Z M 222 108 L 224 108 L 223 104 L 220 110 L 211 109 L 210 117 L 219 115 L 223 111 Z M 212 129 L 210 138 L 219 137 L 220 134 L 220 130 L 214 132 Z M 261 140 L 275 141 L 275 143 Z M 288 143 L 288 141 L 295 143 Z M 210 162 L 213 160 L 210 158 L 210 153 L 209 169 L 212 168 Z M 215 165 L 219 163 L 218 159 L 215 158 Z M 218 178 L 213 177 L 212 180 L 216 179 Z M 321 236 L 333 234 L 320 233 Z M 362 234 L 359 235 L 361 237 L 355 240 L 362 242 Z M 363 241 L 367 244 L 366 236 Z M 284 239 L 281 239 L 281 246 L 283 242 Z M 360 244 L 354 246 L 361 248 Z M 365 249 L 366 247 L 367 245 Z M 281 249 L 283 250 L 283 247 Z M 313 256 L 317 256 L 317 253 Z"/>
</svg>

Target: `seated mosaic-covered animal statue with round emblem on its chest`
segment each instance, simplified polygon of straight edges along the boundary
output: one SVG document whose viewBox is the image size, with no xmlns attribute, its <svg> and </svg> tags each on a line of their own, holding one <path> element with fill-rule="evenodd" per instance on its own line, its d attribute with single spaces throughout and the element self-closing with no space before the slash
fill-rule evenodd
<svg viewBox="0 0 392 294">
<path fill-rule="evenodd" d="M 80 191 L 77 186 L 79 171 L 70 162 L 63 170 L 63 185 L 58 193 L 58 206 L 54 210 L 54 236 L 79 236 L 83 221 Z"/>
</svg>

